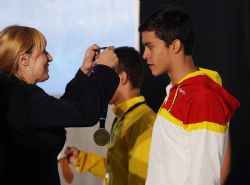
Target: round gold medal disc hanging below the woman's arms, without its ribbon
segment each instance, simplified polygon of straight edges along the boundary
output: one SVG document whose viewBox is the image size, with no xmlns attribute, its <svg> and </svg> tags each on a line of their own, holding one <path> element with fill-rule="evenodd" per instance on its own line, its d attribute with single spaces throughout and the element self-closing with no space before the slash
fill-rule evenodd
<svg viewBox="0 0 250 185">
<path fill-rule="evenodd" d="M 110 135 L 105 128 L 99 128 L 95 131 L 93 138 L 97 145 L 104 146 L 109 143 Z"/>
</svg>

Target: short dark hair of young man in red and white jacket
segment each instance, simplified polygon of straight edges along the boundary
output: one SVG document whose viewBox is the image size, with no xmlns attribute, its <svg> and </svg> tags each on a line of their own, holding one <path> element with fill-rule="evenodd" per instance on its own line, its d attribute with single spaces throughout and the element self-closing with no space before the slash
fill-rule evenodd
<svg viewBox="0 0 250 185">
<path fill-rule="evenodd" d="M 196 40 L 196 30 L 189 15 L 179 7 L 164 5 L 139 26 L 139 32 L 155 31 L 155 35 L 169 46 L 179 39 L 184 53 L 190 55 Z"/>
</svg>

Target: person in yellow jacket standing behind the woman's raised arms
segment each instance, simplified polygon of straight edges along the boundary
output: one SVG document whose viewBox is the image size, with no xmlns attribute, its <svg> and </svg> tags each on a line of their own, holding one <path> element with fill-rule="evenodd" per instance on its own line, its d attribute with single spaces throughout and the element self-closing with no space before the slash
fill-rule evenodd
<svg viewBox="0 0 250 185">
<path fill-rule="evenodd" d="M 65 151 L 78 172 L 91 172 L 106 185 L 144 185 L 149 160 L 153 123 L 156 114 L 140 96 L 143 62 L 134 48 L 115 49 L 120 84 L 110 100 L 116 115 L 108 144 L 107 157 L 87 153 L 76 147 Z"/>
</svg>

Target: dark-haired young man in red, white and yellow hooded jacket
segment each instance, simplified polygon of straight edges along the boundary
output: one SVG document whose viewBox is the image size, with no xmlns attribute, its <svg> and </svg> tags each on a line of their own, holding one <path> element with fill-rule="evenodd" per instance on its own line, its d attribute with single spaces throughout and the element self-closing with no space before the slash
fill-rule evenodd
<svg viewBox="0 0 250 185">
<path fill-rule="evenodd" d="M 219 185 L 228 127 L 238 101 L 219 75 L 197 68 L 187 13 L 163 6 L 139 27 L 143 58 L 171 83 L 153 128 L 147 185 Z"/>
</svg>

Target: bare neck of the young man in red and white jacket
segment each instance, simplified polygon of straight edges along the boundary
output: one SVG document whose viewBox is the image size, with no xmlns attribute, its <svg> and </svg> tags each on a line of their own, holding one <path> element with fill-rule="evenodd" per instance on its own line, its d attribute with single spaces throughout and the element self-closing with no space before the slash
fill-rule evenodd
<svg viewBox="0 0 250 185">
<path fill-rule="evenodd" d="M 171 71 L 168 72 L 168 76 L 173 85 L 178 83 L 186 75 L 197 71 L 197 67 L 194 65 L 191 55 L 184 55 L 178 60 L 179 61 L 176 61 Z"/>
</svg>

